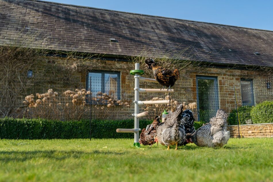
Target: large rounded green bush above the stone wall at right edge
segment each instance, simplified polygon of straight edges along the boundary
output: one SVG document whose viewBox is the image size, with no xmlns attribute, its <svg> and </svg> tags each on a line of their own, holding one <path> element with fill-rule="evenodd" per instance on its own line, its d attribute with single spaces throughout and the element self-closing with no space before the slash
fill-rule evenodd
<svg viewBox="0 0 273 182">
<path fill-rule="evenodd" d="M 257 104 L 251 109 L 250 115 L 254 124 L 273 122 L 273 101 Z"/>
</svg>

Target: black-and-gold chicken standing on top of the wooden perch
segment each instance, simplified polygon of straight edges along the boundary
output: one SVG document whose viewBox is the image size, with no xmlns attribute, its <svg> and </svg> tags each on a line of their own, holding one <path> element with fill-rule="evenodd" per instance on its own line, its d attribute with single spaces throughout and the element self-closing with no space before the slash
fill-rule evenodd
<svg viewBox="0 0 273 182">
<path fill-rule="evenodd" d="M 169 87 L 168 89 L 170 89 L 174 86 L 175 81 L 180 78 L 178 69 L 172 71 L 158 66 L 152 58 L 147 58 L 145 63 L 149 69 L 153 70 L 155 79 L 160 85 L 163 85 L 163 89 L 165 87 Z"/>
</svg>

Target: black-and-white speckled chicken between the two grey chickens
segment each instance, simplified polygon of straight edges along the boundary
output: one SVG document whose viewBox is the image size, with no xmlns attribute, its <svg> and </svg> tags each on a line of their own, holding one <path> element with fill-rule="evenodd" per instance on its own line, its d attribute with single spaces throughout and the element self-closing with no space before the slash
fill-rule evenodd
<svg viewBox="0 0 273 182">
<path fill-rule="evenodd" d="M 193 126 L 194 124 L 194 117 L 193 112 L 189 109 L 184 110 L 180 119 L 180 127 L 184 127 L 185 133 L 194 133 L 195 128 Z M 186 140 L 186 136 L 182 138 L 181 141 L 178 142 L 178 145 L 187 145 L 188 141 Z"/>
</svg>

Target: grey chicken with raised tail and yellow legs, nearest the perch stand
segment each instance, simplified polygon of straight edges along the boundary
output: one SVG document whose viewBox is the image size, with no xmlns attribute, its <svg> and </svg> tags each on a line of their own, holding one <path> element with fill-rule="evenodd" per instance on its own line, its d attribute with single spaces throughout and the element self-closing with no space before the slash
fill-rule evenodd
<svg viewBox="0 0 273 182">
<path fill-rule="evenodd" d="M 161 145 L 167 145 L 167 150 L 170 150 L 170 145 L 175 146 L 177 150 L 178 142 L 186 135 L 182 127 L 180 127 L 180 119 L 183 105 L 179 104 L 172 115 L 166 117 L 164 123 L 160 123 L 156 130 L 155 141 L 159 141 Z"/>
</svg>

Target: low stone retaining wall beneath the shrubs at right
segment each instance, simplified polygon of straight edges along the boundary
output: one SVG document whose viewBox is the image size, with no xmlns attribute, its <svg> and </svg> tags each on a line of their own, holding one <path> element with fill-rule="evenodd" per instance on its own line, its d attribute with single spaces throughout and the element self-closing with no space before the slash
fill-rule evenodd
<svg viewBox="0 0 273 182">
<path fill-rule="evenodd" d="M 239 128 L 243 138 L 273 138 L 273 123 L 242 124 Z M 228 130 L 231 138 L 239 137 L 238 125 L 229 125 Z"/>
</svg>

